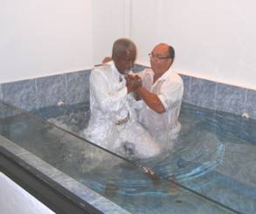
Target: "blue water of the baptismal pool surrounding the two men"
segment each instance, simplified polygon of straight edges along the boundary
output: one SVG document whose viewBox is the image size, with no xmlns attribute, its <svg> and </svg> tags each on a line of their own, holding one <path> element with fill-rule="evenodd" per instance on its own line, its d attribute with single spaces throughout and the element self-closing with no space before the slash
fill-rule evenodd
<svg viewBox="0 0 256 214">
<path fill-rule="evenodd" d="M 0 110 L 0 134 L 28 151 L 19 157 L 39 157 L 128 212 L 256 212 L 254 120 L 183 104 L 171 149 L 127 160 L 77 137 L 88 122 L 86 104 L 33 115 L 6 104 Z"/>
</svg>

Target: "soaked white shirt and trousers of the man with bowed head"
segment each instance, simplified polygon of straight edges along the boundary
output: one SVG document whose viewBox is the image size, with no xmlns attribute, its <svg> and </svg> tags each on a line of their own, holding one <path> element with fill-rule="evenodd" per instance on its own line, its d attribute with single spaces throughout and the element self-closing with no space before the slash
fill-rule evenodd
<svg viewBox="0 0 256 214">
<path fill-rule="evenodd" d="M 132 144 L 135 156 L 155 156 L 160 149 L 149 132 L 136 122 L 131 96 L 124 76 L 113 62 L 95 68 L 90 76 L 91 118 L 84 136 L 121 155 L 125 152 L 123 145 Z"/>
</svg>

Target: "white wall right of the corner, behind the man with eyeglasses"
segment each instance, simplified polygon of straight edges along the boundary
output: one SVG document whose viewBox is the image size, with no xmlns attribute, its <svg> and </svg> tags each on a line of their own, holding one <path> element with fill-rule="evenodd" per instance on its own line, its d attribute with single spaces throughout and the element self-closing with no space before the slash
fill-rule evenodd
<svg viewBox="0 0 256 214">
<path fill-rule="evenodd" d="M 184 74 L 256 89 L 254 0 L 133 0 L 131 37 L 138 60 L 156 43 L 176 49 Z"/>
</svg>

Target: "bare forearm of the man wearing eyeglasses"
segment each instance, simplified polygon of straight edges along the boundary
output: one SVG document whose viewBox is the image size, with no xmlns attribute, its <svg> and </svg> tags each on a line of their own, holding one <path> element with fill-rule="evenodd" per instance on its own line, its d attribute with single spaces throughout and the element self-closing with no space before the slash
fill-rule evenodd
<svg viewBox="0 0 256 214">
<path fill-rule="evenodd" d="M 137 91 L 139 96 L 142 97 L 142 99 L 149 106 L 150 109 L 155 110 L 157 113 L 165 112 L 165 108 L 156 94 L 151 93 L 144 87 L 140 87 Z"/>
</svg>

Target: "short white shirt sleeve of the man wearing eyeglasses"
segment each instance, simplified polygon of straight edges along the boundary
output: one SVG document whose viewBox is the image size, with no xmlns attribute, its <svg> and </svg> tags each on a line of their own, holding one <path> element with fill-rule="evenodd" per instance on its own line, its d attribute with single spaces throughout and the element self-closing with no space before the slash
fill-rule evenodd
<svg viewBox="0 0 256 214">
<path fill-rule="evenodd" d="M 165 110 L 175 104 L 179 104 L 183 97 L 183 81 L 170 79 L 165 80 L 161 85 L 158 98 L 162 102 Z"/>
</svg>

